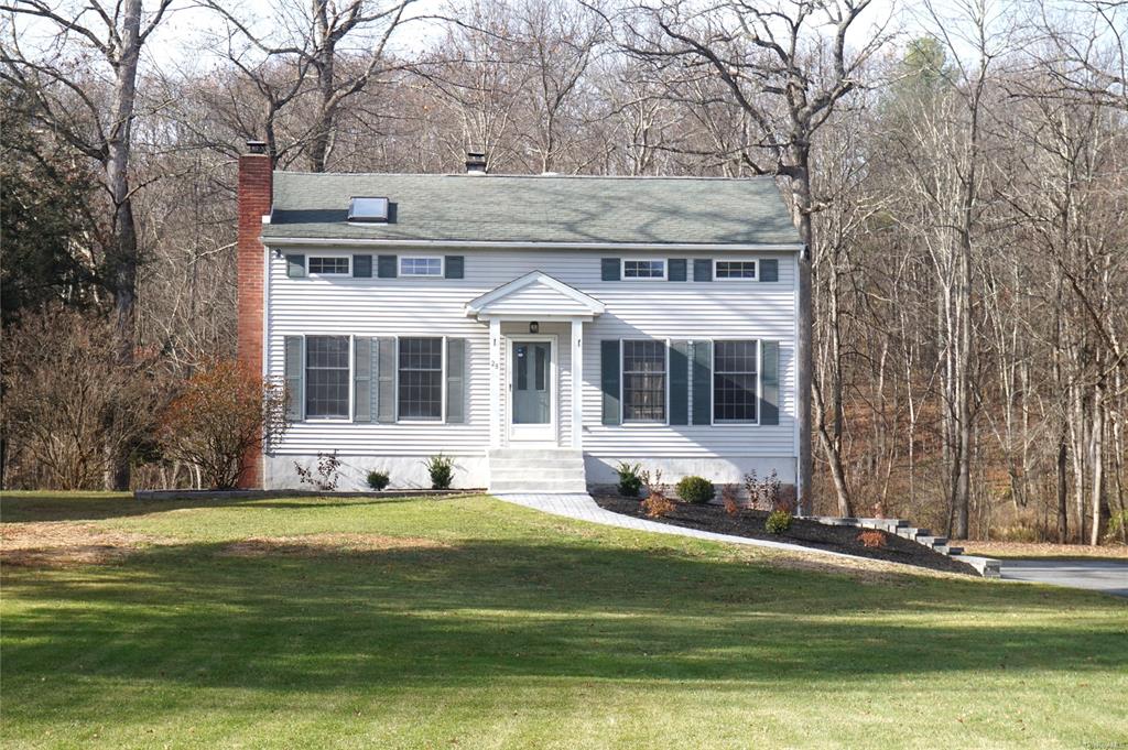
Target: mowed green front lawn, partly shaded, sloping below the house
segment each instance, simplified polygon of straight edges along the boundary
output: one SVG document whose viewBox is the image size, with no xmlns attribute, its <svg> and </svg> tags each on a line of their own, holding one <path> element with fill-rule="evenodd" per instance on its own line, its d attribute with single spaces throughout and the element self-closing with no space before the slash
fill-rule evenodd
<svg viewBox="0 0 1128 750">
<path fill-rule="evenodd" d="M 9 539 L 79 524 L 140 542 L 5 566 L 7 748 L 1128 742 L 1128 601 L 1100 594 L 831 567 L 486 497 L 15 495 L 0 517 Z M 271 537 L 291 539 L 237 544 Z"/>
</svg>

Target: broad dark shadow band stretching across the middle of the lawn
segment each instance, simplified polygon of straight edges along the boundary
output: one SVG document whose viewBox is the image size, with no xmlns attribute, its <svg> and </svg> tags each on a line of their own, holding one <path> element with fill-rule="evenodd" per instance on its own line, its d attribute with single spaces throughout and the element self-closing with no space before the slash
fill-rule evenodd
<svg viewBox="0 0 1128 750">
<path fill-rule="evenodd" d="M 1038 620 L 1094 597 L 899 580 L 596 544 L 256 558 L 157 547 L 8 576 L 29 606 L 6 617 L 3 660 L 6 681 L 33 690 L 41 674 L 277 691 L 504 677 L 805 690 L 866 674 L 1128 669 L 1123 620 Z"/>
</svg>

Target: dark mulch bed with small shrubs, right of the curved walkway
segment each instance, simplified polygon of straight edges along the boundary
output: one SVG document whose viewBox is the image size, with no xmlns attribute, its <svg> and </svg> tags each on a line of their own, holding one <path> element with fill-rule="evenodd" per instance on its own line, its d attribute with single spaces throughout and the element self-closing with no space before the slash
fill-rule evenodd
<svg viewBox="0 0 1128 750">
<path fill-rule="evenodd" d="M 675 503 L 675 510 L 669 515 L 651 519 L 640 508 L 638 500 L 618 495 L 596 495 L 594 498 L 599 506 L 605 510 L 623 515 L 658 521 L 659 523 L 670 523 L 672 526 L 712 531 L 714 533 L 731 533 L 749 539 L 790 541 L 814 549 L 828 549 L 848 555 L 857 555 L 858 557 L 871 557 L 891 563 L 907 563 L 934 571 L 968 573 L 978 576 L 976 570 L 967 563 L 961 563 L 948 555 L 933 552 L 924 545 L 918 545 L 915 541 L 909 541 L 885 531 L 879 531 L 884 537 L 884 546 L 866 547 L 858 541 L 858 535 L 862 532 L 862 529 L 826 526 L 817 521 L 805 521 L 802 519 L 793 519 L 791 528 L 782 535 L 768 533 L 764 530 L 764 521 L 768 517 L 767 511 L 744 509 L 741 510 L 739 515 L 733 517 L 729 515 L 722 505 Z"/>
</svg>

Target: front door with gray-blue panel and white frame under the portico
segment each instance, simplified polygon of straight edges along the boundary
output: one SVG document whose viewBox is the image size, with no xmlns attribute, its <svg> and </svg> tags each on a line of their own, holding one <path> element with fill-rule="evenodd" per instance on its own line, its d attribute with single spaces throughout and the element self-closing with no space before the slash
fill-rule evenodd
<svg viewBox="0 0 1128 750">
<path fill-rule="evenodd" d="M 556 442 L 556 358 L 549 337 L 514 338 L 509 348 L 509 439 Z"/>
</svg>

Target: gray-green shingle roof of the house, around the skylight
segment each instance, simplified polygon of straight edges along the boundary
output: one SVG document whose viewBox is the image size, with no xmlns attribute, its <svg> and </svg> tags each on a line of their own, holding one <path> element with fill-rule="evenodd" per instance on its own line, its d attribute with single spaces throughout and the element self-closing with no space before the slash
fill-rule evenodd
<svg viewBox="0 0 1128 750">
<path fill-rule="evenodd" d="M 388 223 L 346 221 L 387 196 Z M 264 238 L 486 242 L 794 244 L 770 177 L 564 177 L 274 173 Z"/>
</svg>

